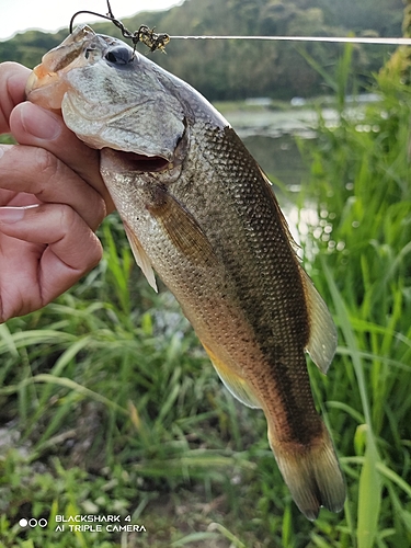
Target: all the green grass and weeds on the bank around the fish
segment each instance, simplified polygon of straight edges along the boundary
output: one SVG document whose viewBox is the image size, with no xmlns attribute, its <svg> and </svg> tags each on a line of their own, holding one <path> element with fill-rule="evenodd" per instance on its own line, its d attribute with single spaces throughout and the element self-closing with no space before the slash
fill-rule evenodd
<svg viewBox="0 0 411 548">
<path fill-rule="evenodd" d="M 0 547 L 411 545 L 410 96 L 378 85 L 359 126 L 341 103 L 336 128 L 320 117 L 318 140 L 299 144 L 310 169 L 300 207 L 319 218 L 305 265 L 339 328 L 329 375 L 309 368 L 346 475 L 344 512 L 300 515 L 262 414 L 222 388 L 112 216 L 98 269 L 0 326 Z M 147 532 L 56 532 L 61 514 L 130 516 L 123 524 Z M 22 529 L 30 516 L 47 527 Z"/>
</svg>

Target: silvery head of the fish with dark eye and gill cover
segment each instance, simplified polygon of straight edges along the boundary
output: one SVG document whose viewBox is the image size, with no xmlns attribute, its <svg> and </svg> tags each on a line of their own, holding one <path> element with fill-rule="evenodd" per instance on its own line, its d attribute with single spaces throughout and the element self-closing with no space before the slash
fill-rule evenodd
<svg viewBox="0 0 411 548">
<path fill-rule="evenodd" d="M 181 162 L 186 128 L 184 104 L 165 73 L 123 41 L 81 25 L 34 68 L 26 96 L 61 111 L 90 147 L 130 152 L 160 171 Z"/>
</svg>

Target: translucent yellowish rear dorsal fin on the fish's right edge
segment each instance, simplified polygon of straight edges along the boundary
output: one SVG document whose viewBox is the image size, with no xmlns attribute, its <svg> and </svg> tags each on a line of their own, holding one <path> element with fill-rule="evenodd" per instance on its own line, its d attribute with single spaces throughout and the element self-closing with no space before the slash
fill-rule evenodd
<svg viewBox="0 0 411 548">
<path fill-rule="evenodd" d="M 308 274 L 302 269 L 300 272 L 310 322 L 310 338 L 306 351 L 317 367 L 327 374 L 336 349 L 336 329 L 326 302 Z"/>
</svg>

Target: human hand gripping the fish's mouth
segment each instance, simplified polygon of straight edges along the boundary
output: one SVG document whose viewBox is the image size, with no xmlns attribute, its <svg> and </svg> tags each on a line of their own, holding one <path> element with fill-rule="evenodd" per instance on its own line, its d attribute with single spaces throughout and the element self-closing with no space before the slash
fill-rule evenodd
<svg viewBox="0 0 411 548">
<path fill-rule="evenodd" d="M 0 323 L 50 302 L 98 264 L 94 230 L 114 209 L 99 152 L 28 102 L 30 70 L 0 65 Z"/>
</svg>

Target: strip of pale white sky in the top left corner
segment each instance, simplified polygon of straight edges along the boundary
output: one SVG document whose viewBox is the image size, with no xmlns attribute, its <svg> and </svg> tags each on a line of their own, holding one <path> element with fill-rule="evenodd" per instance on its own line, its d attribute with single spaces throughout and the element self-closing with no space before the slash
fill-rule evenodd
<svg viewBox="0 0 411 548">
<path fill-rule="evenodd" d="M 111 0 L 117 19 L 139 11 L 164 10 L 178 3 L 181 0 Z M 68 27 L 71 16 L 80 10 L 105 14 L 107 4 L 105 0 L 0 0 L 0 39 L 27 28 L 53 32 Z M 92 15 L 79 15 L 76 23 L 92 23 L 93 20 Z"/>
</svg>

